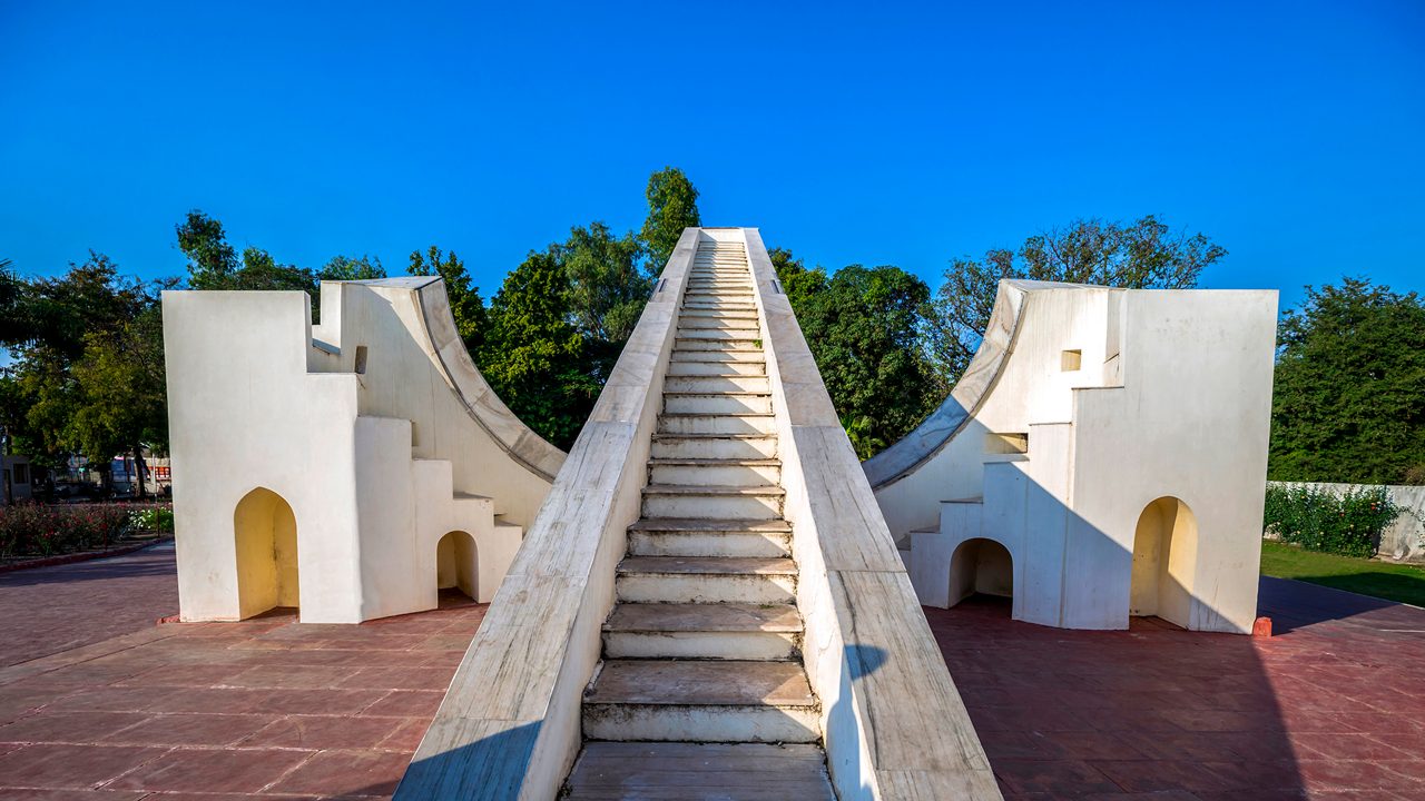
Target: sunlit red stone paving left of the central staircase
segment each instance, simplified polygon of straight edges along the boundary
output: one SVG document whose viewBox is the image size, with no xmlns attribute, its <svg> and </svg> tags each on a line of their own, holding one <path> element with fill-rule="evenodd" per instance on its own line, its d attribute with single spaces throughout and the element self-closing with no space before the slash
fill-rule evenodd
<svg viewBox="0 0 1425 801">
<path fill-rule="evenodd" d="M 0 667 L 0 798 L 389 797 L 484 609 L 447 596 L 359 626 L 157 626 L 168 607 Z"/>
</svg>

